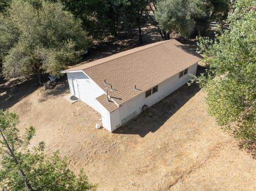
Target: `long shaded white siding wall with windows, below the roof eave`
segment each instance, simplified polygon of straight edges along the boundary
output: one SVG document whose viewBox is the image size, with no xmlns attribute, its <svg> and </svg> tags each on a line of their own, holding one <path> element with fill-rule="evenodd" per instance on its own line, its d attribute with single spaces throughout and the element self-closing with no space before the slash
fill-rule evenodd
<svg viewBox="0 0 256 191">
<path fill-rule="evenodd" d="M 155 94 L 146 98 L 145 92 L 141 93 L 130 101 L 125 102 L 114 112 L 111 112 L 111 131 L 114 131 L 119 126 L 138 115 L 141 112 L 141 107 L 143 105 L 146 104 L 150 107 L 151 105 L 154 105 L 167 95 L 174 92 L 174 90 L 186 84 L 191 79 L 189 73 L 196 74 L 196 70 L 197 64 L 194 64 L 188 68 L 188 74 L 185 76 L 179 78 L 179 73 L 177 73 L 175 76 L 163 81 L 161 84 L 158 84 L 158 92 Z"/>
</svg>

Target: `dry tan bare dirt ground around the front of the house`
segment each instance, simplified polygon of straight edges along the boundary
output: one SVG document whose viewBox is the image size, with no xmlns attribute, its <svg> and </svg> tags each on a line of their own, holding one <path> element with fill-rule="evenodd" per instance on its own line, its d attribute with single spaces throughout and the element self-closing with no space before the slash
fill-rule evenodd
<svg viewBox="0 0 256 191">
<path fill-rule="evenodd" d="M 89 55 L 90 56 L 90 55 Z M 255 190 L 256 161 L 206 112 L 204 93 L 182 86 L 113 134 L 95 129 L 100 116 L 68 103 L 65 78 L 45 91 L 35 79 L 0 79 L 0 107 L 19 114 L 21 133 L 33 125 L 46 155 L 60 150 L 69 167 L 84 168 L 98 190 Z"/>
</svg>

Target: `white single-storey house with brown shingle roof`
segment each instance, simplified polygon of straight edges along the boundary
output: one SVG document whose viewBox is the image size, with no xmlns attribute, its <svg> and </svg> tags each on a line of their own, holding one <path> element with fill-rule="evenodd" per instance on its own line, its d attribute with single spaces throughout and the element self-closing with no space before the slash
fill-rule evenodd
<svg viewBox="0 0 256 191">
<path fill-rule="evenodd" d="M 93 107 L 113 132 L 196 74 L 201 56 L 177 40 L 160 41 L 117 53 L 67 73 L 70 93 Z"/>
</svg>

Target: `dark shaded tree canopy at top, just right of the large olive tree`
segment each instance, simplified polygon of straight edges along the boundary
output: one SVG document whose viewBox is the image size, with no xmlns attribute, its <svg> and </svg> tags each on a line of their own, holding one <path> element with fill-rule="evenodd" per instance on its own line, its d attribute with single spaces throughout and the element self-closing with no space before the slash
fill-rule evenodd
<svg viewBox="0 0 256 191">
<path fill-rule="evenodd" d="M 58 2 L 51 0 L 52 2 Z M 61 0 L 66 10 L 73 13 L 76 18 L 82 20 L 83 28 L 89 32 L 94 39 L 102 39 L 116 32 L 115 22 L 117 20 L 121 0 Z"/>
</svg>

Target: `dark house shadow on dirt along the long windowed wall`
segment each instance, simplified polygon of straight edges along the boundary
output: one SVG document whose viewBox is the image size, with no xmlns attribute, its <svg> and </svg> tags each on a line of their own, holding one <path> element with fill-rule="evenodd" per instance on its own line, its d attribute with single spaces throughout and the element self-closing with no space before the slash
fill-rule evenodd
<svg viewBox="0 0 256 191">
<path fill-rule="evenodd" d="M 203 69 L 197 71 L 197 75 L 204 72 Z M 149 107 L 154 115 L 153 117 L 144 114 L 138 115 L 137 118 L 119 127 L 113 133 L 115 134 L 135 134 L 145 137 L 149 132 L 155 132 L 171 118 L 189 99 L 191 99 L 200 88 L 196 84 L 188 86 L 187 84 L 175 90 L 172 94 Z"/>
</svg>

